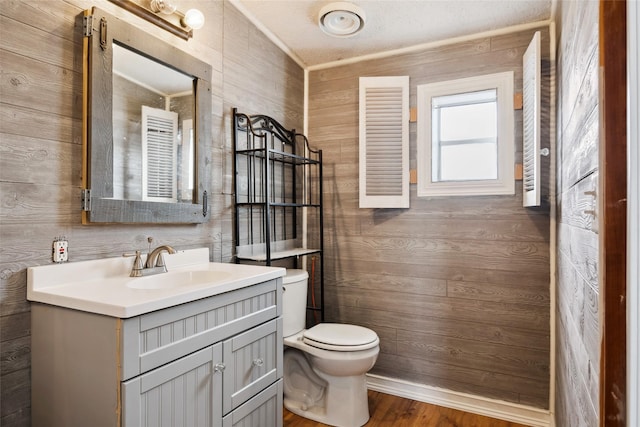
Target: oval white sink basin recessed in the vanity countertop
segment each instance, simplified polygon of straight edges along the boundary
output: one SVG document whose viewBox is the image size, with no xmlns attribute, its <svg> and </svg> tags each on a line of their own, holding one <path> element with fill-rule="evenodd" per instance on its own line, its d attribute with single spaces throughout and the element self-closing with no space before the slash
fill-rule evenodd
<svg viewBox="0 0 640 427">
<path fill-rule="evenodd" d="M 226 271 L 176 271 L 153 276 L 136 277 L 127 282 L 133 289 L 171 289 L 193 285 L 204 285 L 227 280 L 231 273 Z"/>
</svg>

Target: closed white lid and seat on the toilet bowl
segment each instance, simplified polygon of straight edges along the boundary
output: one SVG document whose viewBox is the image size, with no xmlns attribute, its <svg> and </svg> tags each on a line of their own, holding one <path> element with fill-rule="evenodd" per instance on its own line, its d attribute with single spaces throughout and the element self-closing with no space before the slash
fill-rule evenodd
<svg viewBox="0 0 640 427">
<path fill-rule="evenodd" d="M 358 351 L 373 348 L 380 340 L 375 332 L 362 326 L 320 323 L 304 332 L 304 342 L 324 350 Z"/>
</svg>

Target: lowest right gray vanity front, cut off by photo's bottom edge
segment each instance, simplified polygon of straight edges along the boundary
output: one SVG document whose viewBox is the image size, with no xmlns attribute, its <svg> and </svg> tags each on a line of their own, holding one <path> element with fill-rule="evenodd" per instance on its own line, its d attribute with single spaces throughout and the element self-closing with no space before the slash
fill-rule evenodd
<svg viewBox="0 0 640 427">
<path fill-rule="evenodd" d="M 282 427 L 282 380 L 222 420 L 222 427 Z"/>
</svg>

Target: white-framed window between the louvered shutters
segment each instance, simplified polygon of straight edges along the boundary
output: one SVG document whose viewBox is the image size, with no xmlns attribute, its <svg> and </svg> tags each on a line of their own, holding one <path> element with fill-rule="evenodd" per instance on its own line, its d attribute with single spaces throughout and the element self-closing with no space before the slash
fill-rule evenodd
<svg viewBox="0 0 640 427">
<path fill-rule="evenodd" d="M 418 86 L 418 196 L 514 194 L 513 73 Z"/>
</svg>

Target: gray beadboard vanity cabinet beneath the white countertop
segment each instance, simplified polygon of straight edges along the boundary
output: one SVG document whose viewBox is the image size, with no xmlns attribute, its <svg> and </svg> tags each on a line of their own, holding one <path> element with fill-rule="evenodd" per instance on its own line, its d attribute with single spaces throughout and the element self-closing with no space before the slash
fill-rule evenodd
<svg viewBox="0 0 640 427">
<path fill-rule="evenodd" d="M 33 304 L 33 425 L 281 427 L 281 280 L 128 319 Z"/>
</svg>

